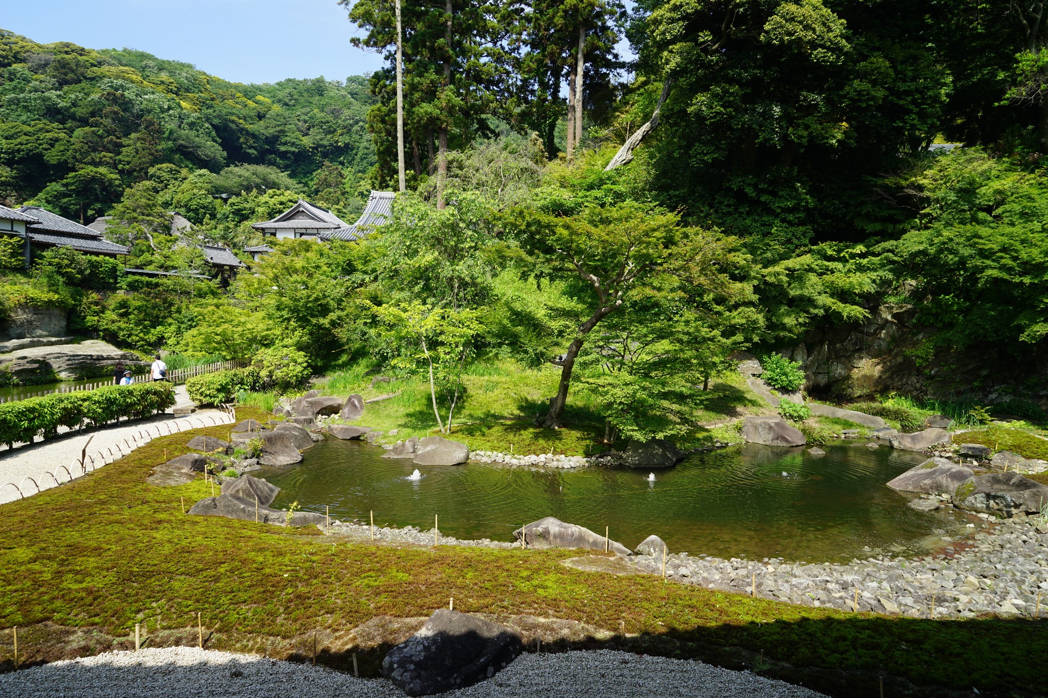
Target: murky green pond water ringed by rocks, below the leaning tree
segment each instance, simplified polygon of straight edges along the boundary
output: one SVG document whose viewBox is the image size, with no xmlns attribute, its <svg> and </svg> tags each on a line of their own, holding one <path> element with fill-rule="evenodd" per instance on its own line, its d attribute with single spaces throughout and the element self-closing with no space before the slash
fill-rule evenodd
<svg viewBox="0 0 1048 698">
<path fill-rule="evenodd" d="M 836 561 L 923 554 L 942 535 L 961 534 L 954 510 L 917 512 L 885 482 L 925 459 L 866 442 L 835 442 L 815 457 L 803 449 L 746 444 L 689 456 L 676 468 L 547 470 L 470 464 L 420 468 L 381 458 L 381 449 L 328 438 L 305 460 L 267 468 L 282 488 L 274 502 L 331 518 L 433 527 L 460 539 L 512 540 L 512 530 L 544 516 L 604 533 L 632 548 L 657 534 L 671 550 L 717 557 Z"/>
</svg>

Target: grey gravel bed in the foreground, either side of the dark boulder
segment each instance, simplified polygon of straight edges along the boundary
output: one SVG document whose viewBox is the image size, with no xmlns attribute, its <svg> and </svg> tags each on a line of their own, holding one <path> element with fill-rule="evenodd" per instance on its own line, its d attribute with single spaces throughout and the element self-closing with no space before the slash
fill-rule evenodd
<svg viewBox="0 0 1048 698">
<path fill-rule="evenodd" d="M 598 650 L 523 654 L 494 678 L 449 698 L 818 698 L 815 693 L 749 672 L 700 661 Z M 358 679 L 321 667 L 254 655 L 176 647 L 110 652 L 0 675 L 0 696 L 134 698 L 402 698 L 385 679 Z"/>
</svg>

